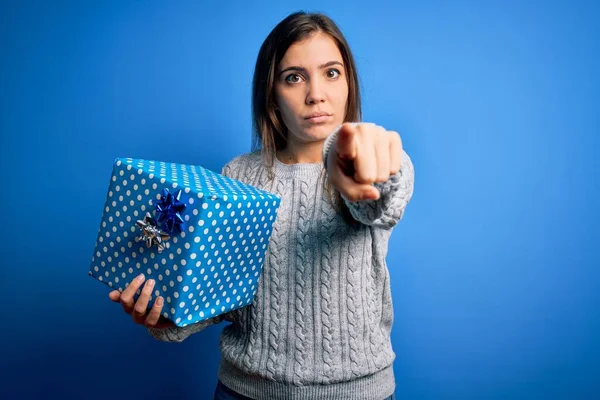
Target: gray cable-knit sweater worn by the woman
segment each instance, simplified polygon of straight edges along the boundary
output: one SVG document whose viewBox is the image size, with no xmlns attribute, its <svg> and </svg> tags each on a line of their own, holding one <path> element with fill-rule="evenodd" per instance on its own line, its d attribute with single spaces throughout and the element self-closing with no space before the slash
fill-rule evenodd
<svg viewBox="0 0 600 400">
<path fill-rule="evenodd" d="M 330 135 L 324 157 L 334 140 Z M 392 228 L 413 194 L 414 168 L 403 152 L 401 171 L 377 201 L 350 202 L 350 226 L 324 190 L 323 163 L 274 160 L 274 179 L 259 152 L 234 158 L 221 171 L 282 197 L 251 305 L 169 329 L 150 328 L 162 341 L 181 342 L 229 322 L 221 333 L 219 379 L 253 399 L 382 400 L 395 389 L 393 322 L 386 264 Z"/>
</svg>

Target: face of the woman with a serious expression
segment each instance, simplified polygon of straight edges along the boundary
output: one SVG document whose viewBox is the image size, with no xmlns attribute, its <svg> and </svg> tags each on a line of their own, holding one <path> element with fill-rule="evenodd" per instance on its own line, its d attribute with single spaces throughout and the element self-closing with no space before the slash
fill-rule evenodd
<svg viewBox="0 0 600 400">
<path fill-rule="evenodd" d="M 319 32 L 294 43 L 275 74 L 275 101 L 288 128 L 288 140 L 322 141 L 344 122 L 346 71 L 329 35 Z"/>
</svg>

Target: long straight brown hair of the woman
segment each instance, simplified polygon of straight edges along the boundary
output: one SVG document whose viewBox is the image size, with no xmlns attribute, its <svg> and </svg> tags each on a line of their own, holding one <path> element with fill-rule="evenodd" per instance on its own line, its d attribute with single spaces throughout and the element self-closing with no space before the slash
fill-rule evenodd
<svg viewBox="0 0 600 400">
<path fill-rule="evenodd" d="M 358 73 L 350 46 L 338 26 L 324 14 L 299 11 L 283 19 L 263 42 L 254 69 L 252 82 L 252 150 L 261 150 L 263 162 L 272 167 L 277 150 L 287 145 L 287 127 L 275 106 L 275 73 L 288 48 L 295 42 L 309 38 L 317 32 L 329 35 L 342 54 L 348 84 L 348 99 L 344 122 L 360 122 L 362 119 L 361 96 Z M 323 180 L 331 204 L 351 225 L 356 221 L 342 201 L 340 193 L 327 180 Z"/>
</svg>

